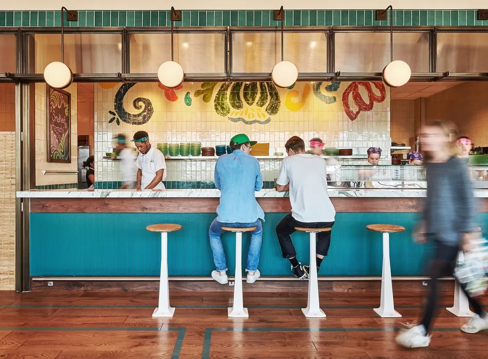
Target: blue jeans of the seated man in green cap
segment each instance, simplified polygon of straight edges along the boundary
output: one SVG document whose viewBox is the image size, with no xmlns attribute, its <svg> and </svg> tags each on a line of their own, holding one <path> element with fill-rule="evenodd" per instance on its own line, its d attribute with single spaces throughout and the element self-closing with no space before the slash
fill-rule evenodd
<svg viewBox="0 0 488 359">
<path fill-rule="evenodd" d="M 261 255 L 261 243 L 263 242 L 263 225 L 261 220 L 258 219 L 254 223 L 222 223 L 214 219 L 208 230 L 208 236 L 210 237 L 210 246 L 212 247 L 212 255 L 214 258 L 215 269 L 221 272 L 227 270 L 227 263 L 225 260 L 224 246 L 222 246 L 222 240 L 220 236 L 225 231 L 224 227 L 257 227 L 255 231 L 251 232 L 251 243 L 249 245 L 249 252 L 247 254 L 247 266 L 246 270 L 253 272 L 258 269 L 259 256 Z"/>
</svg>

